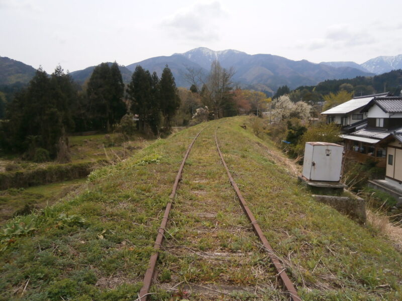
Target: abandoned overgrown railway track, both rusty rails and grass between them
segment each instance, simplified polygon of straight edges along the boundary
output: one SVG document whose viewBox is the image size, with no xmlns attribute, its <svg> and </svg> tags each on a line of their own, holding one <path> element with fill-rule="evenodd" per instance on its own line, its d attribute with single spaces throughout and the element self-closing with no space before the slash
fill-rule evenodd
<svg viewBox="0 0 402 301">
<path fill-rule="evenodd" d="M 145 301 L 154 284 L 158 293 L 168 292 L 176 299 L 299 301 L 286 267 L 275 255 L 227 167 L 217 130 L 207 125 L 187 148 L 139 299 Z M 212 147 L 219 156 L 206 152 Z"/>
</svg>

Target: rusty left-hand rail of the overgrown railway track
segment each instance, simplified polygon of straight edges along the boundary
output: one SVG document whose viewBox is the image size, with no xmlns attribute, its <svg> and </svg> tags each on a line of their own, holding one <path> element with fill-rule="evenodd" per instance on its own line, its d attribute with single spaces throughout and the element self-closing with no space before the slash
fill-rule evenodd
<svg viewBox="0 0 402 301">
<path fill-rule="evenodd" d="M 149 267 L 146 270 L 144 279 L 142 281 L 143 286 L 141 287 L 140 292 L 138 293 L 140 301 L 146 301 L 147 297 L 149 295 L 149 288 L 151 287 L 151 284 L 152 284 L 152 278 L 155 273 L 156 261 L 158 260 L 158 255 L 159 255 L 158 251 L 159 251 L 160 247 L 162 246 L 167 220 L 169 217 L 170 209 L 172 208 L 172 202 L 173 202 L 174 196 L 176 195 L 177 186 L 179 184 L 179 181 L 181 180 L 183 167 L 184 167 L 185 161 L 187 160 L 188 154 L 190 153 L 192 145 L 194 144 L 195 140 L 197 139 L 197 137 L 203 130 L 204 130 L 204 128 L 196 134 L 196 136 L 194 137 L 194 139 L 188 146 L 187 152 L 185 153 L 183 161 L 181 162 L 179 171 L 177 172 L 176 179 L 174 181 L 173 188 L 172 188 L 172 193 L 169 196 L 170 201 L 166 205 L 165 213 L 163 215 L 162 222 L 158 229 L 158 235 L 156 236 L 156 240 L 155 240 L 155 244 L 154 244 L 154 249 L 156 252 L 152 254 L 152 256 L 149 260 Z"/>
</svg>

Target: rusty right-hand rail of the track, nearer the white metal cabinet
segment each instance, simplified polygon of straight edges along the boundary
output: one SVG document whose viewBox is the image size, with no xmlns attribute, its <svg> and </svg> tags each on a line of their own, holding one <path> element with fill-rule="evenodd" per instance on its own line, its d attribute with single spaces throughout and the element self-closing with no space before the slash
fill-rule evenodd
<svg viewBox="0 0 402 301">
<path fill-rule="evenodd" d="M 218 128 L 217 128 L 218 129 Z M 276 268 L 277 275 L 279 276 L 280 281 L 282 282 L 282 285 L 284 289 L 289 293 L 290 295 L 290 300 L 291 301 L 302 301 L 300 297 L 297 295 L 296 289 L 293 286 L 293 283 L 290 281 L 289 277 L 287 276 L 285 272 L 285 268 L 283 265 L 280 263 L 279 258 L 274 254 L 274 250 L 272 249 L 271 245 L 269 244 L 268 240 L 266 239 L 264 233 L 262 232 L 260 226 L 258 225 L 257 220 L 255 219 L 253 213 L 251 210 L 248 208 L 246 201 L 244 200 L 239 188 L 237 187 L 237 184 L 235 180 L 233 180 L 233 177 L 228 169 L 228 166 L 226 165 L 225 159 L 223 158 L 221 148 L 219 147 L 218 143 L 218 138 L 217 138 L 217 131 L 215 130 L 215 143 L 217 144 L 217 149 L 219 156 L 221 157 L 222 163 L 226 169 L 226 173 L 228 174 L 228 177 L 230 179 L 230 183 L 232 184 L 234 190 L 236 191 L 236 194 L 239 198 L 240 205 L 242 206 L 244 212 L 246 213 L 248 219 L 250 220 L 251 224 L 253 225 L 253 230 L 258 236 L 258 238 L 261 240 L 264 248 L 268 251 L 269 257 L 273 263 L 273 265 Z"/>
</svg>

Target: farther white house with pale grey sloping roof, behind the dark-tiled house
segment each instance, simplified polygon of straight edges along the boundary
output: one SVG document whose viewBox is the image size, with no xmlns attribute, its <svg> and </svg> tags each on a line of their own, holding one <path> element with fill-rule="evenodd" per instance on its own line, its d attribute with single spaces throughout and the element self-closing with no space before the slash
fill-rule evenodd
<svg viewBox="0 0 402 301">
<path fill-rule="evenodd" d="M 353 97 L 351 100 L 341 103 L 336 107 L 328 109 L 321 114 L 327 116 L 327 123 L 340 124 L 342 127 L 350 126 L 352 124 L 362 123 L 367 115 L 360 110 L 364 108 L 374 97 L 381 97 L 389 95 L 386 93 L 365 95 Z"/>
</svg>

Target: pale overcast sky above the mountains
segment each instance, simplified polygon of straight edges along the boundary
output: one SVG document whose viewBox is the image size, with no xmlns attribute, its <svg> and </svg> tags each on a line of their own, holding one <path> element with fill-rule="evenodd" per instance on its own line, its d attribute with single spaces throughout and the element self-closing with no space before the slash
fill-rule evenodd
<svg viewBox="0 0 402 301">
<path fill-rule="evenodd" d="M 402 5 L 382 1 L 0 0 L 0 56 L 49 73 L 196 47 L 292 60 L 402 54 Z"/>
</svg>

